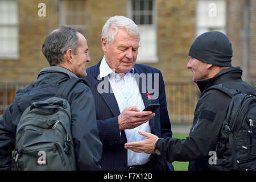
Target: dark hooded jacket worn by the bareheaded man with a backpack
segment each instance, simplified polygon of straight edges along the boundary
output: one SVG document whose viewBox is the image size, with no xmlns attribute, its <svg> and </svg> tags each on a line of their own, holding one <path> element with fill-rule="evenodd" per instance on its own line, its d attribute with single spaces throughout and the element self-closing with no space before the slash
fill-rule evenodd
<svg viewBox="0 0 256 182">
<path fill-rule="evenodd" d="M 11 169 L 11 152 L 15 147 L 15 133 L 20 116 L 32 102 L 47 100 L 55 96 L 61 83 L 72 77 L 68 69 L 48 67 L 42 69 L 36 82 L 17 90 L 15 100 L 0 119 L 0 170 Z M 36 87 L 36 89 L 32 89 Z M 33 90 L 33 91 L 31 91 Z M 79 82 L 71 90 L 67 100 L 71 105 L 72 137 L 75 146 L 77 169 L 97 170 L 100 168 L 102 143 L 97 130 L 96 113 L 92 92 Z"/>
</svg>

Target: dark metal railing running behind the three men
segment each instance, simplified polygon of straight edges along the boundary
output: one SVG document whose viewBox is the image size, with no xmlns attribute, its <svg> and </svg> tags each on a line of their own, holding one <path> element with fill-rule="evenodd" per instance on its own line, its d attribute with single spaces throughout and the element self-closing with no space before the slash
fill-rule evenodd
<svg viewBox="0 0 256 182">
<path fill-rule="evenodd" d="M 13 102 L 16 90 L 24 88 L 25 82 L 0 82 L 0 116 Z M 200 91 L 193 82 L 166 82 L 167 109 L 172 123 L 192 123 Z M 256 82 L 251 82 L 256 85 Z"/>
</svg>

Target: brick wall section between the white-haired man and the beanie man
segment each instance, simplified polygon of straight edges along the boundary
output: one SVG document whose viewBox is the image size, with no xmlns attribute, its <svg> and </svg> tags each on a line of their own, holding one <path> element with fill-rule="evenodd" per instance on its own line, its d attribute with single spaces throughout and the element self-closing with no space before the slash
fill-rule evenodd
<svg viewBox="0 0 256 182">
<path fill-rule="evenodd" d="M 166 81 L 191 81 L 186 68 L 195 39 L 195 1 L 157 1 L 159 68 Z"/>
</svg>

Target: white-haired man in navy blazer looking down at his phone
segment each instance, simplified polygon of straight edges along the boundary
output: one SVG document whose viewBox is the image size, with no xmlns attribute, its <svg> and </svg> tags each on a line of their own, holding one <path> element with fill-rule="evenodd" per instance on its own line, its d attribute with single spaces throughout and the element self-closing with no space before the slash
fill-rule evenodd
<svg viewBox="0 0 256 182">
<path fill-rule="evenodd" d="M 96 104 L 104 170 L 173 169 L 171 163 L 156 155 L 137 154 L 124 148 L 126 142 L 144 139 L 138 130 L 172 137 L 162 73 L 156 68 L 135 64 L 139 36 L 133 20 L 125 16 L 109 18 L 102 28 L 104 57 L 87 69 L 85 79 L 91 85 Z M 142 111 L 148 104 L 160 104 L 160 107 L 154 113 Z"/>
</svg>

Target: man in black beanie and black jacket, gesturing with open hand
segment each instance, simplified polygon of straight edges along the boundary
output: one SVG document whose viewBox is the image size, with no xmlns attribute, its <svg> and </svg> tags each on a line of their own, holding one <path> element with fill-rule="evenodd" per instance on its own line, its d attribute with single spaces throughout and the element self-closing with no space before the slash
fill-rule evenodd
<svg viewBox="0 0 256 182">
<path fill-rule="evenodd" d="M 242 70 L 232 67 L 232 44 L 221 32 L 201 34 L 189 49 L 187 68 L 192 80 L 203 93 L 212 85 L 222 84 L 242 93 L 256 94 L 254 86 L 242 81 Z M 193 126 L 186 139 L 158 138 L 139 131 L 147 139 L 126 143 L 125 148 L 136 152 L 155 153 L 169 162 L 189 161 L 189 170 L 209 170 L 209 159 L 216 148 L 230 97 L 219 90 L 209 90 L 200 97 L 195 109 Z"/>
</svg>

